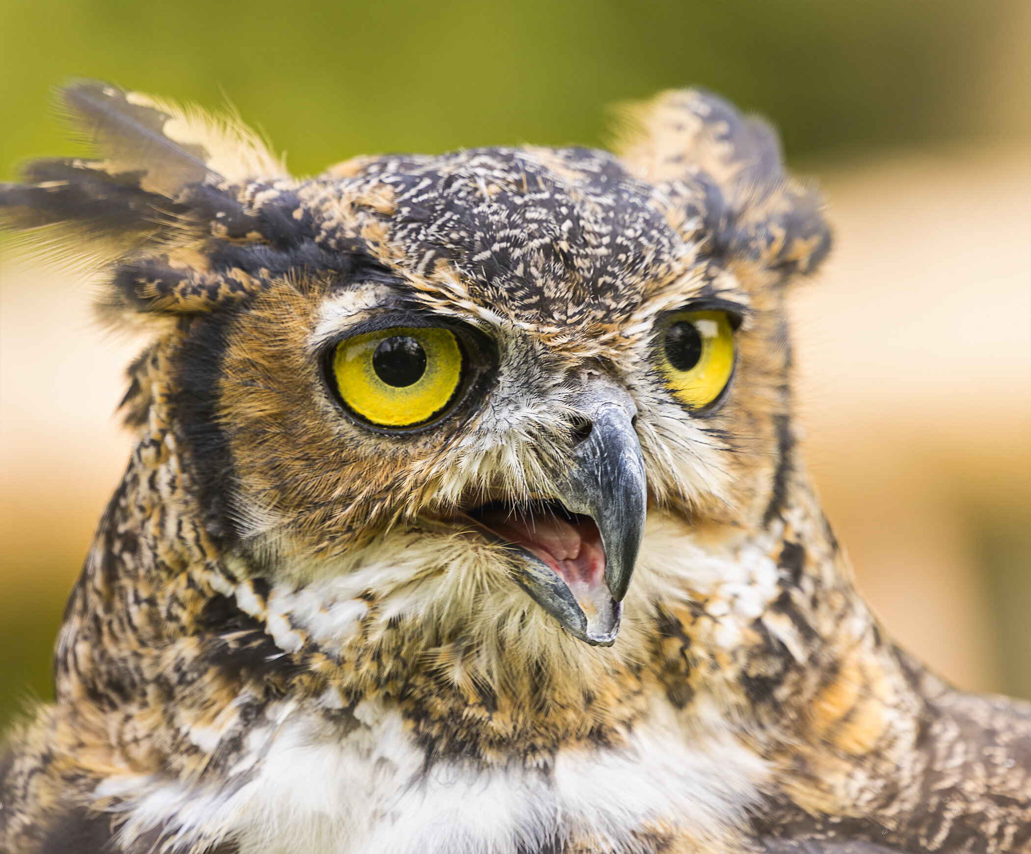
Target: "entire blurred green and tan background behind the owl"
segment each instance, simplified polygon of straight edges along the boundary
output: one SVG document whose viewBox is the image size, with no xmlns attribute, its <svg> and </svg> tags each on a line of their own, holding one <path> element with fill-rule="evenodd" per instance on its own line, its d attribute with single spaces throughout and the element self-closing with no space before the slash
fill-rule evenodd
<svg viewBox="0 0 1031 854">
<path fill-rule="evenodd" d="M 805 453 L 862 590 L 960 686 L 1031 697 L 1031 3 L 5 0 L 0 179 L 81 150 L 99 76 L 243 117 L 298 173 L 363 151 L 602 144 L 698 83 L 780 128 L 836 248 L 794 298 Z M 0 725 L 48 659 L 128 439 L 138 342 L 0 243 Z"/>
</svg>

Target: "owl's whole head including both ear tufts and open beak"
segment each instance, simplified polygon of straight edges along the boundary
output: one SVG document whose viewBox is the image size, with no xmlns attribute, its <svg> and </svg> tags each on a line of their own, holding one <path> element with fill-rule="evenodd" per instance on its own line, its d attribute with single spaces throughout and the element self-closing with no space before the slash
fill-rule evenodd
<svg viewBox="0 0 1031 854">
<path fill-rule="evenodd" d="M 618 156 L 301 179 L 199 111 L 91 81 L 63 99 L 96 159 L 30 164 L 0 215 L 103 266 L 105 316 L 151 330 L 128 420 L 175 443 L 174 500 L 225 573 L 360 578 L 427 626 L 557 620 L 604 646 L 653 519 L 775 516 L 785 289 L 830 241 L 761 122 L 671 92 Z"/>
</svg>

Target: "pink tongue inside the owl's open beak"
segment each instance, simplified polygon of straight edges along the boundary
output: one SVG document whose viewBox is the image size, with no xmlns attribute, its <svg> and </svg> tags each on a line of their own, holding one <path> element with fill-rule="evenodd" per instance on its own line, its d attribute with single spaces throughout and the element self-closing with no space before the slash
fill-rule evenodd
<svg viewBox="0 0 1031 854">
<path fill-rule="evenodd" d="M 598 526 L 591 520 L 567 522 L 553 513 L 526 514 L 494 510 L 480 521 L 506 540 L 533 552 L 557 572 L 577 600 L 601 583 L 605 549 Z"/>
</svg>

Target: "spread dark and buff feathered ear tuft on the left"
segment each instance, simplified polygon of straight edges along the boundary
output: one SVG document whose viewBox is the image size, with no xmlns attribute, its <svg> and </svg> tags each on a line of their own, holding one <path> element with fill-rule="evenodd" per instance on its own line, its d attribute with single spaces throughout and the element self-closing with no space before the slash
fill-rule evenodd
<svg viewBox="0 0 1031 854">
<path fill-rule="evenodd" d="M 114 262 L 108 314 L 212 311 L 255 293 L 247 262 L 270 266 L 262 252 L 284 229 L 246 194 L 288 176 L 254 132 L 95 80 L 61 100 L 97 157 L 28 164 L 24 183 L 0 184 L 0 226 L 62 260 Z"/>
</svg>

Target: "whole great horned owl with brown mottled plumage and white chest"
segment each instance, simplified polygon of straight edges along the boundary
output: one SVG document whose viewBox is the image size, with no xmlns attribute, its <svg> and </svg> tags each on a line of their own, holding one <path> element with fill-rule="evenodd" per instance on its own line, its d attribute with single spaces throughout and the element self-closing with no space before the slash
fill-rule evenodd
<svg viewBox="0 0 1031 854">
<path fill-rule="evenodd" d="M 296 179 L 64 99 L 98 159 L 0 206 L 152 338 L 3 851 L 1031 849 L 1031 709 L 893 646 L 805 474 L 830 238 L 764 124 L 673 92 L 620 156 Z"/>
</svg>

